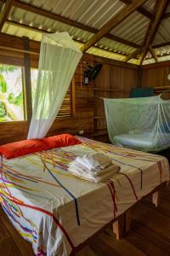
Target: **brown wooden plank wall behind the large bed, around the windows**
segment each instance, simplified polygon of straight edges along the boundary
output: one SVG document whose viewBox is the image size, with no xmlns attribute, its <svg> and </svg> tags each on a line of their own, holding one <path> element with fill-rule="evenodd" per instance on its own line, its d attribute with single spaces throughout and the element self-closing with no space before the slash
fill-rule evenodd
<svg viewBox="0 0 170 256">
<path fill-rule="evenodd" d="M 23 45 L 22 38 L 1 33 L 0 63 L 24 66 Z M 11 47 L 14 50 L 10 49 Z M 30 40 L 31 67 L 37 67 L 39 50 L 40 44 Z M 93 67 L 97 62 L 102 63 L 103 67 L 95 83 L 91 82 L 88 86 L 84 86 L 85 67 L 87 65 Z M 99 100 L 99 96 L 127 97 L 129 90 L 137 86 L 138 67 L 133 64 L 85 54 L 74 77 L 75 114 L 72 117 L 55 119 L 48 135 L 62 132 L 78 134 L 78 131 L 83 130 L 84 136 L 107 141 L 104 104 L 103 100 Z M 0 123 L 0 144 L 26 139 L 26 136 L 26 121 Z"/>
</svg>

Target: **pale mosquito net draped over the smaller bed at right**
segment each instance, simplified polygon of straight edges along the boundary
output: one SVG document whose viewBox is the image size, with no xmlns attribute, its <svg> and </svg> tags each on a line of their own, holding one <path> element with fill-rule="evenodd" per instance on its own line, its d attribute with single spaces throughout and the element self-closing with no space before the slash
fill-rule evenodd
<svg viewBox="0 0 170 256">
<path fill-rule="evenodd" d="M 111 143 L 148 152 L 170 148 L 170 100 L 150 96 L 104 102 Z"/>
</svg>

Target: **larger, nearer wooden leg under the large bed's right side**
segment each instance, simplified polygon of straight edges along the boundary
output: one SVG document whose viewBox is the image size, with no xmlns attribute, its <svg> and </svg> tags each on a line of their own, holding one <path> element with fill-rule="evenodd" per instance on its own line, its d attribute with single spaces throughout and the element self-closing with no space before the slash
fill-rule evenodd
<svg viewBox="0 0 170 256">
<path fill-rule="evenodd" d="M 116 239 L 122 239 L 127 231 L 130 230 L 131 218 L 130 210 L 119 216 L 116 222 L 113 224 L 113 232 L 116 234 Z"/>
</svg>

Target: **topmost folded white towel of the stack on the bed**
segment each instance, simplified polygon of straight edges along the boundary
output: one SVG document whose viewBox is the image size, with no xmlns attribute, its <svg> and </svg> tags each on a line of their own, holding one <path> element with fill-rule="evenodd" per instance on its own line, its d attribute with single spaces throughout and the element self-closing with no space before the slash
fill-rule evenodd
<svg viewBox="0 0 170 256">
<path fill-rule="evenodd" d="M 76 161 L 92 172 L 94 169 L 105 169 L 105 167 L 109 166 L 112 162 L 109 156 L 102 153 L 85 154 L 82 157 L 77 156 Z"/>
</svg>

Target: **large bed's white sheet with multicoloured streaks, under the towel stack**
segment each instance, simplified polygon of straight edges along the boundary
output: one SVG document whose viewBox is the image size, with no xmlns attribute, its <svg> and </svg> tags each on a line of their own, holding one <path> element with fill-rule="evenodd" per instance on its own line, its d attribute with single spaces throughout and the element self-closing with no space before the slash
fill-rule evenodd
<svg viewBox="0 0 170 256">
<path fill-rule="evenodd" d="M 3 211 L 36 255 L 65 256 L 161 183 L 169 181 L 167 159 L 78 137 L 82 143 L 3 159 Z M 77 155 L 100 151 L 121 166 L 104 183 L 67 172 Z"/>
</svg>

